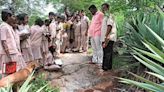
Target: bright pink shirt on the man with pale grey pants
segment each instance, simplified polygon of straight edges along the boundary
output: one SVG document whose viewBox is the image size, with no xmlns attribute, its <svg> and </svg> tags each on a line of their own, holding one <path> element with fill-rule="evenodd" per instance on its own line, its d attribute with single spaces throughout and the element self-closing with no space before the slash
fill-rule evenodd
<svg viewBox="0 0 164 92">
<path fill-rule="evenodd" d="M 89 27 L 88 33 L 91 37 L 101 36 L 101 26 L 103 21 L 104 14 L 100 11 L 97 11 L 92 17 L 91 25 Z"/>
</svg>

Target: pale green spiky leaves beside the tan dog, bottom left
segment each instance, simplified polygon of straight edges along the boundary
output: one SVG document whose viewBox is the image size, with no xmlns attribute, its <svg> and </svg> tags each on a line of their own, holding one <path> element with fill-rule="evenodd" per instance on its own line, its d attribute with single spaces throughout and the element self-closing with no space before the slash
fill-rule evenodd
<svg viewBox="0 0 164 92">
<path fill-rule="evenodd" d="M 23 85 L 20 87 L 18 92 L 29 92 L 30 87 L 32 84 L 30 84 L 30 81 L 32 79 L 34 72 L 27 78 L 27 80 L 23 83 Z M 47 85 L 41 87 L 36 92 L 41 92 Z M 12 86 L 8 86 L 7 88 L 1 88 L 0 92 L 13 92 Z"/>
</svg>

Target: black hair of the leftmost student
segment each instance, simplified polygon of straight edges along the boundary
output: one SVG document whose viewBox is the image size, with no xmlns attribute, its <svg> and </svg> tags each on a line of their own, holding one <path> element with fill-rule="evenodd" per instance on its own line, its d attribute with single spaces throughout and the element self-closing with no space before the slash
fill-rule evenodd
<svg viewBox="0 0 164 92">
<path fill-rule="evenodd" d="M 9 9 L 3 9 L 1 12 L 2 21 L 7 21 L 8 17 L 13 15 L 12 11 Z"/>
</svg>

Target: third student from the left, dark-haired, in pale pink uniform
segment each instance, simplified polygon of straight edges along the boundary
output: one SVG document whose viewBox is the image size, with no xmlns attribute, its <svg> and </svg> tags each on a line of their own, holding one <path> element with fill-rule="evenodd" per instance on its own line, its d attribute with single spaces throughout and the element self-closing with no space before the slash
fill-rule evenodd
<svg viewBox="0 0 164 92">
<path fill-rule="evenodd" d="M 43 37 L 42 35 L 44 31 L 44 29 L 42 28 L 43 24 L 44 22 L 42 21 L 42 19 L 38 18 L 35 21 L 35 25 L 33 25 L 30 29 L 31 48 L 32 48 L 34 60 L 37 60 L 41 64 L 43 64 L 43 62 L 41 62 L 42 59 L 41 42 L 42 42 L 42 37 Z"/>
</svg>

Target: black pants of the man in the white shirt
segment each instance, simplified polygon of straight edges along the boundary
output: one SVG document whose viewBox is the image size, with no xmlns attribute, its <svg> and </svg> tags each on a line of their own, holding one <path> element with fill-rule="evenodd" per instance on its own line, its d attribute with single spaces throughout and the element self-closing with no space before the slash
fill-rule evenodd
<svg viewBox="0 0 164 92">
<path fill-rule="evenodd" d="M 109 41 L 108 45 L 105 48 L 103 48 L 103 70 L 112 69 L 113 44 L 114 41 Z"/>
</svg>

